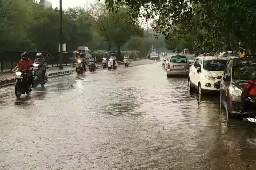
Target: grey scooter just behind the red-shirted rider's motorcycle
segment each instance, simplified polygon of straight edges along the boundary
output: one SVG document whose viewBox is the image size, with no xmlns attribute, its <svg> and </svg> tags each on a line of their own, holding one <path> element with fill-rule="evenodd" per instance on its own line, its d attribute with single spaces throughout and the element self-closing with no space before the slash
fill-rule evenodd
<svg viewBox="0 0 256 170">
<path fill-rule="evenodd" d="M 38 62 L 33 64 L 34 88 L 36 88 L 38 84 L 44 86 L 45 83 L 48 82 L 49 74 L 46 70 L 43 73 L 44 69 L 46 69 L 46 62 L 44 62 L 44 64 L 39 64 Z"/>
</svg>

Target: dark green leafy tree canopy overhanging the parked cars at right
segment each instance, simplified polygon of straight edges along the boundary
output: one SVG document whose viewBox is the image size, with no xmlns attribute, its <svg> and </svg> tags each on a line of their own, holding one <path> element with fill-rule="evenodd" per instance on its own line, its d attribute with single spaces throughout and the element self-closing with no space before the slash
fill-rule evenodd
<svg viewBox="0 0 256 170">
<path fill-rule="evenodd" d="M 204 51 L 253 49 L 256 45 L 255 0 L 106 0 L 110 11 L 118 10 L 120 4 L 129 6 L 134 21 L 138 15 L 155 19 L 155 31 L 167 39 L 171 29 L 181 24 L 178 34 L 196 35 L 195 44 Z"/>
</svg>

